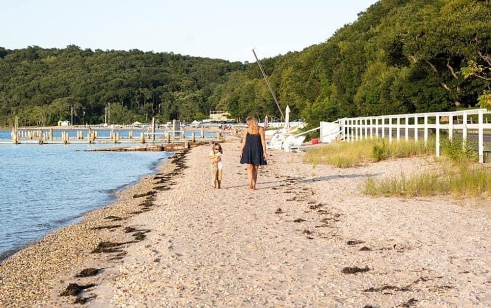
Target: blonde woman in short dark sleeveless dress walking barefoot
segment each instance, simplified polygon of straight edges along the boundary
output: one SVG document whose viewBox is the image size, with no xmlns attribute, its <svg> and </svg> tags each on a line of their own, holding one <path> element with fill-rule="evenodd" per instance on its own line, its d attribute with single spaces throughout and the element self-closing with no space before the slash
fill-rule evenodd
<svg viewBox="0 0 491 308">
<path fill-rule="evenodd" d="M 246 120 L 247 130 L 242 137 L 241 164 L 247 166 L 247 179 L 249 189 L 256 189 L 257 170 L 259 166 L 266 165 L 266 141 L 264 140 L 264 128 L 257 124 L 257 120 L 249 117 Z"/>
</svg>

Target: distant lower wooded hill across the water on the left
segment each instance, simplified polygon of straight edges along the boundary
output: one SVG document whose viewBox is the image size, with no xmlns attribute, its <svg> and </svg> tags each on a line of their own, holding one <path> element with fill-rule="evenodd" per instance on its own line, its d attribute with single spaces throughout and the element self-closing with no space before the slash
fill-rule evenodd
<svg viewBox="0 0 491 308">
<path fill-rule="evenodd" d="M 205 118 L 217 84 L 243 66 L 138 50 L 0 48 L 0 126 L 14 112 L 22 125 L 52 125 L 72 111 L 75 124 L 99 124 L 109 104 L 111 123 Z"/>
</svg>

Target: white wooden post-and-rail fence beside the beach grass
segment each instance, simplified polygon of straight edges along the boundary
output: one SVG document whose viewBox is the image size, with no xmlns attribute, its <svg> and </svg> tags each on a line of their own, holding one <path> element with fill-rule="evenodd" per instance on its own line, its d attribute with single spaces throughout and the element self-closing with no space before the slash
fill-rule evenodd
<svg viewBox="0 0 491 308">
<path fill-rule="evenodd" d="M 387 135 L 389 142 L 394 138 L 409 140 L 409 131 L 412 130 L 412 138 L 417 141 L 423 131 L 423 138 L 428 142 L 428 132 L 435 129 L 436 157 L 440 156 L 440 130 L 448 131 L 448 138 L 452 139 L 454 132 L 462 131 L 462 139 L 467 140 L 468 131 L 475 130 L 478 135 L 479 162 L 484 162 L 484 132 L 491 133 L 491 123 L 484 123 L 484 114 L 489 114 L 486 109 L 473 109 L 455 112 L 429 112 L 412 114 L 395 114 L 382 116 L 367 116 L 338 119 L 341 124 L 341 134 L 345 140 L 363 140 Z M 477 122 L 471 121 L 469 115 L 477 115 Z M 422 122 L 422 123 L 420 123 Z M 388 130 L 388 132 L 387 132 Z"/>
</svg>

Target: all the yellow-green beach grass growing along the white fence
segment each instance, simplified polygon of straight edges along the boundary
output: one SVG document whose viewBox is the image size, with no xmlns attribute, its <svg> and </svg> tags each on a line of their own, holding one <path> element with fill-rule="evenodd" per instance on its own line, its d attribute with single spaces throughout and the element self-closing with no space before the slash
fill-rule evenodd
<svg viewBox="0 0 491 308">
<path fill-rule="evenodd" d="M 388 179 L 368 177 L 362 188 L 371 196 L 491 196 L 491 169 L 474 164 L 477 155 L 462 140 L 442 138 L 438 168 L 418 174 L 401 173 Z M 387 139 L 331 143 L 308 150 L 304 163 L 328 164 L 339 168 L 361 166 L 387 158 L 435 155 L 435 140 L 414 142 Z"/>
</svg>

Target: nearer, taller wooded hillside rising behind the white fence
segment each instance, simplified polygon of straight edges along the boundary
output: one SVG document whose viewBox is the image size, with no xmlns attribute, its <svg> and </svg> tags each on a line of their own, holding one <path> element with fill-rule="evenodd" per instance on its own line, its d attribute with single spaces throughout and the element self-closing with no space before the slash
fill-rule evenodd
<svg viewBox="0 0 491 308">
<path fill-rule="evenodd" d="M 490 37 L 489 0 L 381 0 L 325 43 L 262 64 L 281 106 L 312 125 L 449 111 L 474 107 L 489 90 Z M 257 65 L 221 88 L 237 114 L 276 109 Z"/>
</svg>

